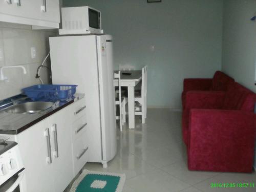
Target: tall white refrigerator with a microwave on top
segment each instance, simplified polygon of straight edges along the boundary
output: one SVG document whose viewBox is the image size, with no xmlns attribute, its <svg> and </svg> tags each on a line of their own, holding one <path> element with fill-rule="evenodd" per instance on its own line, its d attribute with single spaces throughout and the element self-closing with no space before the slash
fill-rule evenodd
<svg viewBox="0 0 256 192">
<path fill-rule="evenodd" d="M 50 37 L 53 84 L 86 94 L 89 162 L 103 167 L 117 150 L 111 35 Z"/>
</svg>

